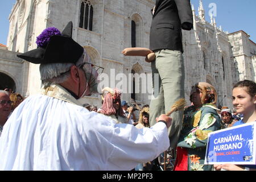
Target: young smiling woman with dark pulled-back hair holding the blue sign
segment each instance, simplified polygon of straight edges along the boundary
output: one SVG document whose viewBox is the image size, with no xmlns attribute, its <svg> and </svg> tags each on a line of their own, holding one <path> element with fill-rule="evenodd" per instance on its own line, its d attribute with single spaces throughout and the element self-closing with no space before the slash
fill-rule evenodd
<svg viewBox="0 0 256 182">
<path fill-rule="evenodd" d="M 250 80 L 238 82 L 233 88 L 233 105 L 237 113 L 243 114 L 243 119 L 234 123 L 233 126 L 243 125 L 256 121 L 256 83 Z M 238 166 L 234 164 L 216 164 L 216 170 L 228 171 L 255 171 L 256 165 Z"/>
</svg>

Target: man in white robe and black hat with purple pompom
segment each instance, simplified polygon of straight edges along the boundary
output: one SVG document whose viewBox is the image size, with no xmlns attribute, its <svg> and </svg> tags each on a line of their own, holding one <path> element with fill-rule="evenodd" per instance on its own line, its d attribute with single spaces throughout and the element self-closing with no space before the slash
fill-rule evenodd
<svg viewBox="0 0 256 182">
<path fill-rule="evenodd" d="M 160 115 L 139 130 L 81 106 L 77 99 L 97 90 L 97 72 L 71 38 L 72 22 L 61 33 L 55 29 L 38 36 L 37 49 L 19 55 L 40 64 L 43 89 L 6 122 L 0 170 L 130 170 L 167 150 L 170 117 Z"/>
</svg>

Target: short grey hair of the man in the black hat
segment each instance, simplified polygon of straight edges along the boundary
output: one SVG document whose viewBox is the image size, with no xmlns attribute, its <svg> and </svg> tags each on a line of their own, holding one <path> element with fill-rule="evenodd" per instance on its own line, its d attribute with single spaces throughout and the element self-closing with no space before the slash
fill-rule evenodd
<svg viewBox="0 0 256 182">
<path fill-rule="evenodd" d="M 84 61 L 84 53 L 76 62 L 76 66 L 79 66 Z M 74 65 L 73 63 L 50 63 L 40 64 L 40 75 L 42 84 L 49 86 L 51 84 L 60 84 L 68 79 L 70 76 L 69 69 Z M 67 72 L 67 73 L 65 73 Z M 64 74 L 63 74 L 64 73 Z"/>
</svg>

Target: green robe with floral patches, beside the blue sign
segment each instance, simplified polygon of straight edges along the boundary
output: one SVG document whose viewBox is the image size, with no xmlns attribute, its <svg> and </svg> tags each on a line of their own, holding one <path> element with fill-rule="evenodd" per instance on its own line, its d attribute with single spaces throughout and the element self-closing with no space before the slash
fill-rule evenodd
<svg viewBox="0 0 256 182">
<path fill-rule="evenodd" d="M 210 171 L 212 165 L 204 165 L 208 133 L 221 129 L 217 108 L 204 104 L 196 110 L 190 106 L 184 111 L 183 126 L 177 147 L 188 151 L 188 171 Z"/>
</svg>

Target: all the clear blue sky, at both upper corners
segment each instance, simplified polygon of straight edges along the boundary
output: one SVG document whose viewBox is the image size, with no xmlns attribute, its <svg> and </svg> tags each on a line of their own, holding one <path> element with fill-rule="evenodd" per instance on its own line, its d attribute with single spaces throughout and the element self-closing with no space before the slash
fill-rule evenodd
<svg viewBox="0 0 256 182">
<path fill-rule="evenodd" d="M 0 43 L 5 45 L 9 32 L 9 15 L 15 2 L 16 0 L 0 0 Z M 199 0 L 191 0 L 191 3 L 198 14 Z M 208 22 L 209 12 L 213 13 L 217 27 L 221 26 L 222 30 L 229 33 L 243 30 L 256 43 L 256 0 L 203 0 L 203 5 Z"/>
</svg>

